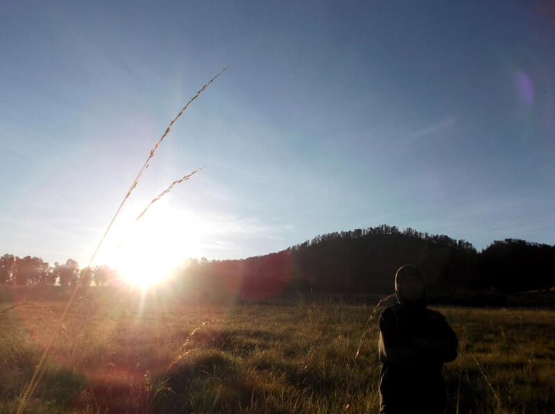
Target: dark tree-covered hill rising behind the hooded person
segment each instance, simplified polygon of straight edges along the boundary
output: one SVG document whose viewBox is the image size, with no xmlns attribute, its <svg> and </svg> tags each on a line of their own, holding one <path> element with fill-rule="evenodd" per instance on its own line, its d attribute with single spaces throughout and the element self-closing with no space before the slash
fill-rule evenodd
<svg viewBox="0 0 555 414">
<path fill-rule="evenodd" d="M 380 225 L 316 236 L 287 250 L 243 260 L 193 261 L 200 288 L 262 292 L 391 293 L 395 271 L 416 264 L 429 291 L 528 291 L 555 285 L 555 246 L 506 239 L 482 252 L 464 240 Z"/>
</svg>

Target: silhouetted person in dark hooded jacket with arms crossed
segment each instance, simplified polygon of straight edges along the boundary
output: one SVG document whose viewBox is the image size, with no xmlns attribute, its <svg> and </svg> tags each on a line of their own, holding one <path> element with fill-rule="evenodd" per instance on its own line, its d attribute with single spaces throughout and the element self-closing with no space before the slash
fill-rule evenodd
<svg viewBox="0 0 555 414">
<path fill-rule="evenodd" d="M 395 275 L 398 303 L 379 316 L 380 413 L 443 413 L 443 363 L 454 361 L 456 334 L 438 311 L 426 307 L 426 283 L 416 266 Z"/>
</svg>

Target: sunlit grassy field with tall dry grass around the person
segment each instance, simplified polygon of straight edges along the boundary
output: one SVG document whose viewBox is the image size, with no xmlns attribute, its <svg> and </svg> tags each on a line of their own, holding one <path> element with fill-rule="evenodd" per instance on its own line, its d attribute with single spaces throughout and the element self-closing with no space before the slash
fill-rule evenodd
<svg viewBox="0 0 555 414">
<path fill-rule="evenodd" d="M 21 301 L 3 292 L 0 311 Z M 63 295 L 0 313 L 0 412 L 377 412 L 376 302 L 305 297 L 217 304 L 94 289 L 60 327 Z M 441 310 L 459 336 L 447 413 L 555 412 L 555 311 Z"/>
</svg>

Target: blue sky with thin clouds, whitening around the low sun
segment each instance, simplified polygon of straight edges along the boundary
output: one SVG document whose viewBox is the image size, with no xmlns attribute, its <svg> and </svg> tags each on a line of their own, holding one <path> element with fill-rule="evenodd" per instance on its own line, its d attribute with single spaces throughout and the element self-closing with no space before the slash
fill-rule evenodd
<svg viewBox="0 0 555 414">
<path fill-rule="evenodd" d="M 3 1 L 0 255 L 85 266 L 228 64 L 94 263 L 383 223 L 554 244 L 555 8 L 416 3 Z"/>
</svg>

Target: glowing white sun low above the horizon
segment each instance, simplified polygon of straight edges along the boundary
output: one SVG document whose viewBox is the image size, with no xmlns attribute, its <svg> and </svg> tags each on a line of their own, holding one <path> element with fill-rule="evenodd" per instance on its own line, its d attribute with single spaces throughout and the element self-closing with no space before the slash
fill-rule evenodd
<svg viewBox="0 0 555 414">
<path fill-rule="evenodd" d="M 135 224 L 112 263 L 127 282 L 147 288 L 166 279 L 187 257 L 198 255 L 200 232 L 191 214 L 160 202 Z"/>
</svg>

